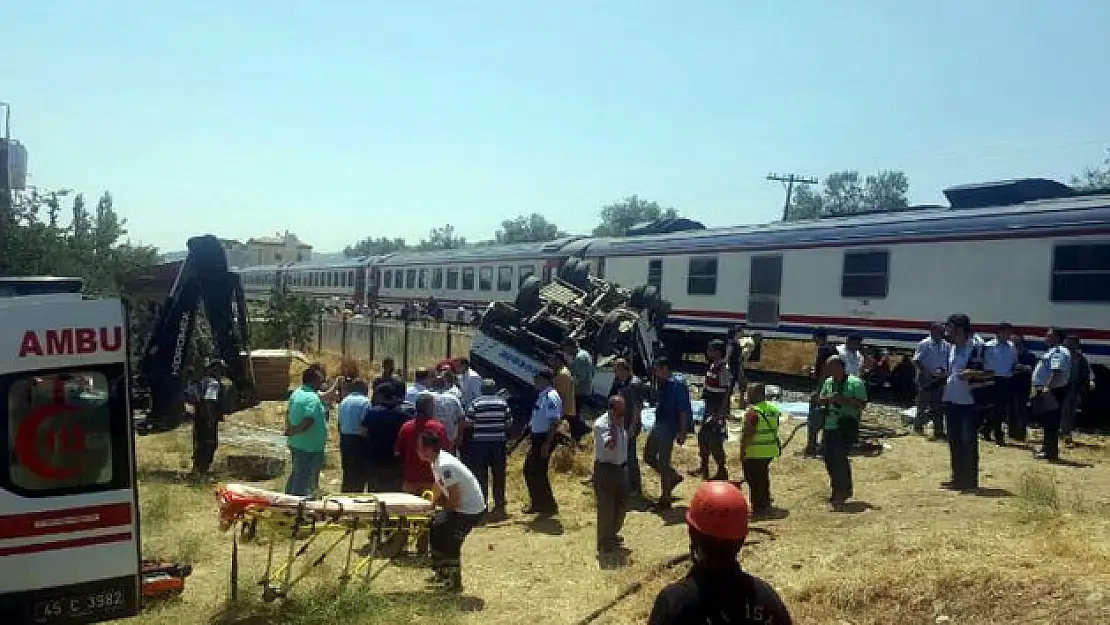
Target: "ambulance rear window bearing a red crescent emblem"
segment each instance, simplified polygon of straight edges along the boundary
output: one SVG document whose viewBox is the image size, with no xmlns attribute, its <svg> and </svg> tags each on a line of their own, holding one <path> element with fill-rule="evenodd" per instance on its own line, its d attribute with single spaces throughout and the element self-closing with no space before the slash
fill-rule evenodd
<svg viewBox="0 0 1110 625">
<path fill-rule="evenodd" d="M 8 385 L 7 482 L 43 495 L 117 483 L 118 425 L 108 377 L 99 371 L 23 376 Z M 125 464 L 123 465 L 125 466 Z"/>
</svg>

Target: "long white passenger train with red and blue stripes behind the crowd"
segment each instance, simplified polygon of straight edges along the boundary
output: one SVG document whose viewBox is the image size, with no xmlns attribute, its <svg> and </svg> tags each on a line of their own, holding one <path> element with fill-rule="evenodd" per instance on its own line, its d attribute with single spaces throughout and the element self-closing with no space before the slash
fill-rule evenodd
<svg viewBox="0 0 1110 625">
<path fill-rule="evenodd" d="M 946 190 L 949 208 L 614 239 L 470 246 L 356 259 L 331 266 L 242 270 L 248 292 L 273 284 L 398 309 L 511 302 L 524 278 L 571 258 L 625 286 L 652 284 L 673 310 L 673 355 L 704 352 L 744 325 L 766 341 L 808 340 L 824 326 L 907 350 L 930 321 L 970 315 L 990 334 L 1012 323 L 1041 349 L 1045 329 L 1078 333 L 1110 364 L 1110 193 L 1048 180 Z"/>
</svg>

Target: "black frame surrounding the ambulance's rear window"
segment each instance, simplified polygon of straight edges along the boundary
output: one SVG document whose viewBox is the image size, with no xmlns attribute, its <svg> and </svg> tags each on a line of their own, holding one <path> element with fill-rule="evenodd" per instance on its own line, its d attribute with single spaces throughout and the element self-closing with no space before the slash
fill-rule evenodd
<svg viewBox="0 0 1110 625">
<path fill-rule="evenodd" d="M 13 435 L 18 441 L 19 432 L 12 432 L 12 396 L 11 393 L 17 385 L 29 377 L 47 379 L 60 375 L 80 376 L 95 375 L 103 380 L 104 392 L 107 392 L 107 403 L 103 406 L 108 417 L 108 427 L 104 435 L 108 438 L 108 462 L 110 463 L 110 475 L 107 480 L 95 480 L 83 484 L 68 484 L 49 487 L 44 485 L 28 485 L 21 483 L 12 475 L 12 470 L 21 465 L 18 462 L 17 451 L 13 445 Z M 36 371 L 31 374 L 27 372 L 13 372 L 0 375 L 0 464 L 4 467 L 0 471 L 0 488 L 12 494 L 28 498 L 50 498 L 69 495 L 83 495 L 92 493 L 103 493 L 133 487 L 133 476 L 131 473 L 132 437 L 129 429 L 130 413 L 128 411 L 128 387 L 127 370 L 122 363 L 93 365 L 93 366 L 71 366 L 63 369 L 49 369 Z M 33 401 L 33 400 L 32 400 Z M 27 414 L 24 413 L 26 417 Z M 48 417 L 49 419 L 49 417 Z M 40 430 L 41 425 L 40 424 Z M 60 434 L 59 434 L 60 435 Z M 59 438 L 59 442 L 62 442 Z M 88 436 L 85 436 L 88 443 Z M 40 456 L 41 457 L 41 456 Z M 28 467 L 30 468 L 30 467 Z M 104 471 L 108 467 L 103 467 Z M 21 480 L 26 480 L 21 477 Z M 39 480 L 43 480 L 42 476 Z"/>
</svg>

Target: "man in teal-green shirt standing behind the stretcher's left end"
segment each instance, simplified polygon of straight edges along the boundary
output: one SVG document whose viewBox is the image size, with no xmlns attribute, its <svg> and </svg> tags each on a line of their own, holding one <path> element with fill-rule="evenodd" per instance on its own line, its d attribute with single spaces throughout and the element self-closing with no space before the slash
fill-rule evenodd
<svg viewBox="0 0 1110 625">
<path fill-rule="evenodd" d="M 320 488 L 327 446 L 326 409 L 319 393 L 322 383 L 320 371 L 309 367 L 301 374 L 301 387 L 289 397 L 285 436 L 293 468 L 285 493 L 290 495 L 306 497 Z"/>
</svg>

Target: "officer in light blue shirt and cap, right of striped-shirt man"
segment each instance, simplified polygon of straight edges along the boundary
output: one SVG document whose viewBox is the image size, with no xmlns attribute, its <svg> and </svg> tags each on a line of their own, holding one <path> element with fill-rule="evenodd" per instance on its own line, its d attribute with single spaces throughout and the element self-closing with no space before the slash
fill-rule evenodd
<svg viewBox="0 0 1110 625">
<path fill-rule="evenodd" d="M 555 494 L 552 492 L 547 467 L 551 464 L 552 446 L 563 419 L 563 400 L 552 386 L 555 373 L 549 369 L 536 372 L 536 404 L 532 409 L 532 446 L 524 458 L 524 483 L 528 487 L 531 505 L 524 514 L 544 516 L 558 514 Z"/>
</svg>

